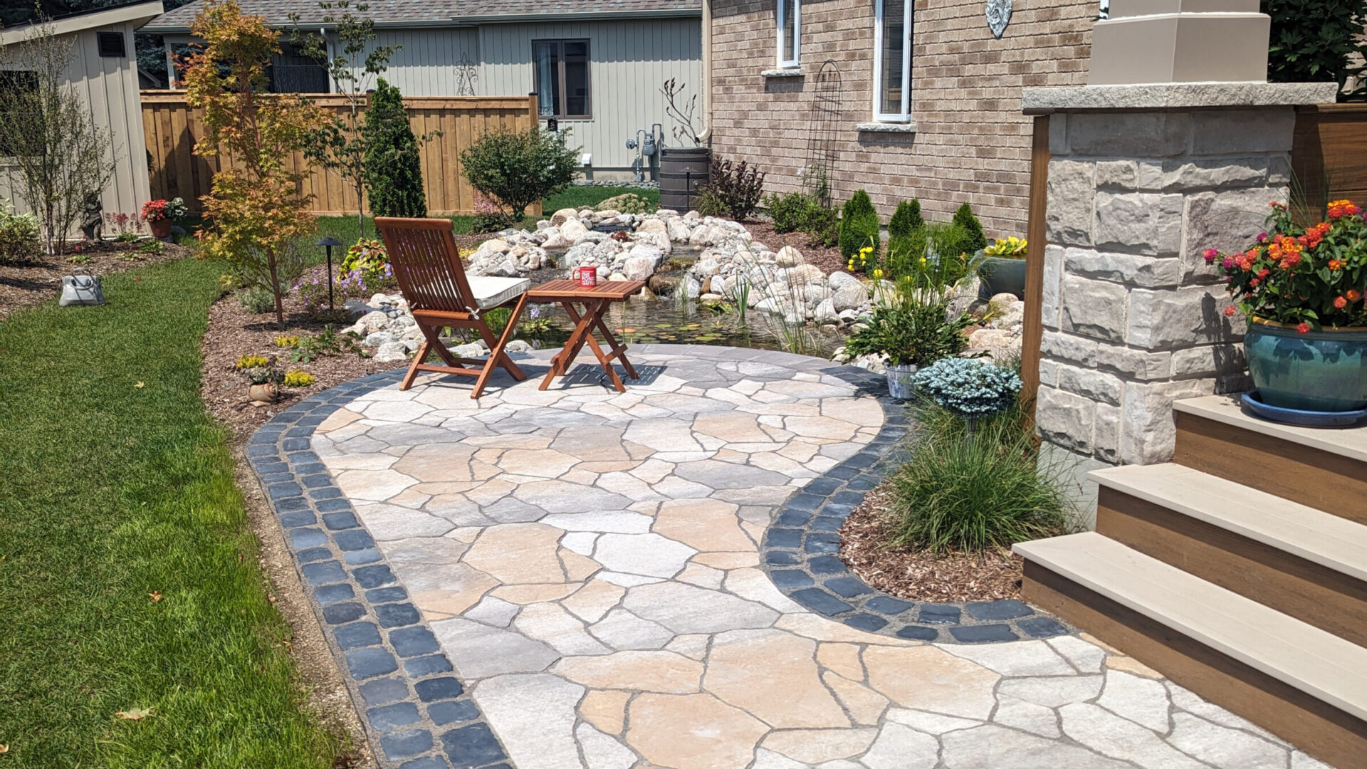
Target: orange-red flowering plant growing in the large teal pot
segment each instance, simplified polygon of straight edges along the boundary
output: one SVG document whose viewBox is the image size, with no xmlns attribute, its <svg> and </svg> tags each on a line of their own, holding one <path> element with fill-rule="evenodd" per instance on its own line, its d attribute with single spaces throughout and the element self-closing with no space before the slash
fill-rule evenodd
<svg viewBox="0 0 1367 769">
<path fill-rule="evenodd" d="M 1271 204 L 1269 233 L 1243 253 L 1204 253 L 1218 264 L 1234 305 L 1248 317 L 1295 327 L 1367 326 L 1367 216 L 1348 200 L 1329 204 L 1326 219 L 1301 227 L 1281 203 Z"/>
</svg>

